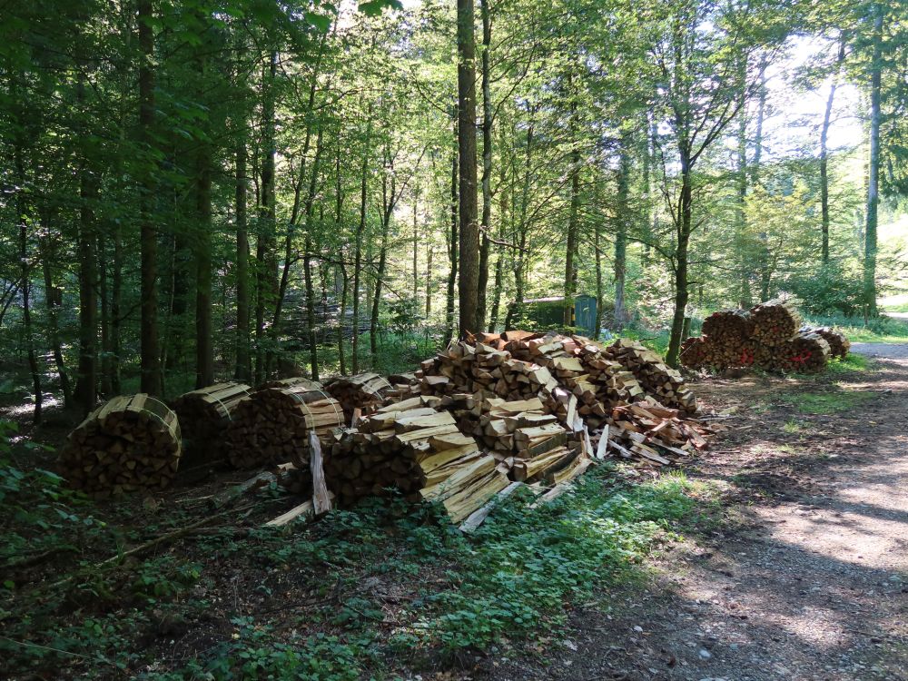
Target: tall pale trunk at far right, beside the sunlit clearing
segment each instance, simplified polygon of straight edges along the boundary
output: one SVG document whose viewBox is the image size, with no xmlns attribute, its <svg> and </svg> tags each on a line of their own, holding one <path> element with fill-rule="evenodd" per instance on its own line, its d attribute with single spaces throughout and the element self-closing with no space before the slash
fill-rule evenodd
<svg viewBox="0 0 908 681">
<path fill-rule="evenodd" d="M 883 5 L 873 4 L 873 55 L 870 64 L 870 163 L 864 228 L 864 319 L 876 311 L 876 228 L 880 205 L 880 82 L 883 73 Z"/>
</svg>

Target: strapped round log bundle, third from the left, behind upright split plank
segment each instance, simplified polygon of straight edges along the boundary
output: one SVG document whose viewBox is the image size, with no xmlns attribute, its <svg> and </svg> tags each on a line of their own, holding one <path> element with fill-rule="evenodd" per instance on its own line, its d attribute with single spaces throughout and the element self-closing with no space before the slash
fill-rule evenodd
<svg viewBox="0 0 908 681">
<path fill-rule="evenodd" d="M 224 437 L 231 465 L 250 469 L 293 461 L 308 466 L 309 431 L 326 439 L 343 425 L 343 410 L 324 390 L 311 389 L 312 381 L 284 388 L 263 388 L 242 398 Z"/>
</svg>

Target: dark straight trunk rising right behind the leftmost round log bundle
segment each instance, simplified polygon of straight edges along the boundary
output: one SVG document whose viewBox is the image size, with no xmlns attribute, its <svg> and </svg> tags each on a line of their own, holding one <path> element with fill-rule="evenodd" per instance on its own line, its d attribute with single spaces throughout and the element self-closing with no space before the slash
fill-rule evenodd
<svg viewBox="0 0 908 681">
<path fill-rule="evenodd" d="M 154 35 L 153 0 L 137 0 L 139 22 L 139 142 L 146 158 L 139 186 L 139 248 L 141 251 L 140 322 L 141 390 L 151 395 L 162 393 L 162 377 L 158 346 L 158 269 L 157 229 L 153 217 L 154 173 L 147 166 L 153 163 L 151 146 L 154 125 Z"/>
</svg>

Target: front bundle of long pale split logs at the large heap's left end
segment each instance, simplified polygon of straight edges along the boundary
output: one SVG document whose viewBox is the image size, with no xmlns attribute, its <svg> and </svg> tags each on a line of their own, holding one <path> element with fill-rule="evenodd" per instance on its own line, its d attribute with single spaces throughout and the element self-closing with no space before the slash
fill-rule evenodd
<svg viewBox="0 0 908 681">
<path fill-rule="evenodd" d="M 449 412 L 429 404 L 389 405 L 356 429 L 335 431 L 325 479 L 341 504 L 397 489 L 441 502 L 459 522 L 507 487 L 498 461 L 461 433 Z"/>
</svg>

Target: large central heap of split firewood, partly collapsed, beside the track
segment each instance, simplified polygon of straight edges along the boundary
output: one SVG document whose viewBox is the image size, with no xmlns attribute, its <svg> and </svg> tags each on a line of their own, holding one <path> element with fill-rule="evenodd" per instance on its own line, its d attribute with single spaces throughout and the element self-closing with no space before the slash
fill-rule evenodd
<svg viewBox="0 0 908 681">
<path fill-rule="evenodd" d="M 325 477 L 341 505 L 397 489 L 458 521 L 512 481 L 557 485 L 609 449 L 666 465 L 711 433 L 681 376 L 630 341 L 481 334 L 391 380 L 384 406 L 334 431 Z"/>
</svg>

